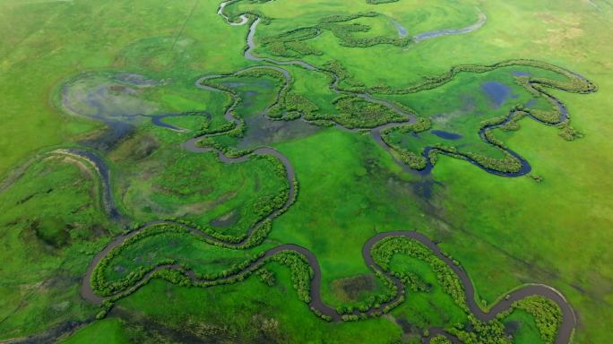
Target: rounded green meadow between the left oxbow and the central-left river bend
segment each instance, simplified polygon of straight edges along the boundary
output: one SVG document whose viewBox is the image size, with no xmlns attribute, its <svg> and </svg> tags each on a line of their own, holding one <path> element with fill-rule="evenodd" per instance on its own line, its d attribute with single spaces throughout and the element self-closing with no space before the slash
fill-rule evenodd
<svg viewBox="0 0 613 344">
<path fill-rule="evenodd" d="M 117 189 L 136 219 L 185 219 L 241 236 L 267 215 L 263 202 L 287 193 L 286 176 L 273 161 L 258 156 L 225 164 L 213 152 L 190 153 L 168 145 L 145 159 L 117 159 L 123 172 Z"/>
</svg>

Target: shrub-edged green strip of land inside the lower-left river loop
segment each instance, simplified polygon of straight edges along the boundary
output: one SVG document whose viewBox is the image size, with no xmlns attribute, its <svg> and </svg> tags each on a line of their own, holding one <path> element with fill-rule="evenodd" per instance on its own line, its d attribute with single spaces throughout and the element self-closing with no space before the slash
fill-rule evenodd
<svg viewBox="0 0 613 344">
<path fill-rule="evenodd" d="M 186 235 L 189 236 L 187 240 Z M 187 245 L 190 245 L 189 239 L 191 241 L 202 240 L 212 246 L 196 248 L 194 255 L 182 257 L 181 261 L 177 262 L 178 257 L 182 255 L 181 252 L 186 249 Z M 146 279 L 146 283 L 151 277 L 160 277 L 179 285 L 212 287 L 245 280 L 264 262 L 270 261 L 278 262 L 289 268 L 292 273 L 291 280 L 294 288 L 298 291 L 298 297 L 306 303 L 310 302 L 309 283 L 313 279 L 314 272 L 307 264 L 306 258 L 301 254 L 294 251 L 281 251 L 262 259 L 262 253 L 248 257 L 248 255 L 235 250 L 215 248 L 216 245 L 227 248 L 249 248 L 248 243 L 247 241 L 247 244 L 243 246 L 220 244 L 220 242 L 213 241 L 206 236 L 195 235 L 189 229 L 177 225 L 157 225 L 142 228 L 102 258 L 93 271 L 91 285 L 100 296 L 117 295 L 117 297 L 111 299 L 125 297 L 127 295 L 125 291 L 128 294 L 133 292 L 133 287 L 137 283 L 143 279 Z M 197 244 L 192 243 L 191 245 Z M 152 256 L 151 254 L 145 254 L 151 252 L 153 247 L 158 248 L 155 254 Z M 229 258 L 229 255 L 234 255 L 235 258 Z M 211 264 L 211 262 L 213 263 Z M 142 263 L 147 265 L 143 266 Z M 171 264 L 177 264 L 184 271 L 193 271 L 196 280 L 184 281 L 174 273 L 155 270 L 156 267 Z M 212 272 L 215 266 L 225 267 L 226 269 Z M 202 270 L 203 267 L 206 269 L 205 271 Z M 155 272 L 151 274 L 152 271 Z M 266 272 L 260 272 L 259 274 L 266 274 Z M 115 279 L 119 277 L 119 279 L 115 280 L 113 277 Z M 270 281 L 272 277 L 268 275 L 263 279 Z"/>
</svg>

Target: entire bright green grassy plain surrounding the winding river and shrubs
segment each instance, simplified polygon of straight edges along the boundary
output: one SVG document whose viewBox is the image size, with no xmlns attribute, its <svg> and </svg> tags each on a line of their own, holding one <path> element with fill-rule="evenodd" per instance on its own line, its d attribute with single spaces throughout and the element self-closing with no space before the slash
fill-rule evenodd
<svg viewBox="0 0 613 344">
<path fill-rule="evenodd" d="M 316 0 L 229 5 L 230 14 L 253 10 L 272 18 L 270 25 L 258 26 L 256 43 L 263 37 L 313 26 L 332 14 L 383 14 L 353 21 L 372 26 L 370 31 L 354 33 L 359 38 L 397 37 L 391 19 L 414 35 L 466 27 L 477 20 L 479 10 L 488 15 L 488 22 L 480 30 L 406 48 L 342 47 L 341 40 L 329 30 L 306 41 L 324 54 L 301 58 L 319 66 L 339 61 L 353 82 L 367 86 L 407 87 L 424 77 L 445 73 L 456 64 L 492 64 L 511 58 L 557 64 L 582 73 L 599 86 L 599 92 L 590 95 L 552 91 L 568 107 L 574 128 L 585 134 L 581 140 L 566 142 L 557 135 L 557 129 L 530 119 L 523 119 L 517 132 L 496 131 L 497 138 L 531 163 L 532 174 L 541 176 L 541 183 L 530 177 L 488 175 L 471 164 L 446 157 L 439 159 L 431 176 L 412 176 L 402 172 L 369 135 L 334 128 L 270 140 L 220 137 L 219 142 L 241 148 L 272 144 L 296 167 L 298 202 L 274 221 L 269 243 L 294 243 L 313 251 L 322 265 L 324 301 L 342 305 L 348 301 L 339 289 L 343 281 L 370 274 L 361 258 L 364 242 L 377 232 L 416 229 L 442 241 L 445 251 L 462 262 L 479 298 L 488 304 L 524 282 L 546 283 L 561 290 L 580 314 L 574 342 L 611 341 L 608 328 L 613 316 L 613 257 L 609 247 L 613 242 L 608 228 L 613 226 L 613 184 L 609 177 L 613 168 L 609 157 L 613 151 L 609 140 L 613 135 L 609 116 L 613 81 L 608 71 L 613 68 L 609 61 L 613 48 L 603 42 L 611 36 L 613 11 L 607 2 L 592 2 L 595 6 L 571 1 L 535 4 L 528 0 L 487 4 L 401 0 L 377 5 Z M 142 92 L 135 88 L 140 93 L 120 97 L 120 104 L 113 103 L 113 110 L 206 111 L 211 115 L 166 119 L 170 124 L 185 126 L 190 133 L 155 128 L 148 120 L 140 120 L 134 133 L 102 152 L 108 156 L 120 206 L 134 222 L 175 216 L 204 226 L 212 219 L 235 219 L 240 214 L 230 228 L 218 229 L 233 235 L 244 233 L 255 221 L 255 201 L 279 193 L 285 180 L 274 174 L 266 160 L 226 166 L 212 154 L 196 155 L 179 148 L 194 132 L 226 123 L 223 110 L 228 97 L 195 88 L 198 77 L 232 73 L 255 64 L 242 56 L 246 26 L 229 26 L 216 14 L 218 5 L 219 1 L 213 0 L 0 1 L 0 176 L 8 176 L 10 170 L 37 152 L 73 145 L 101 133 L 99 122 L 68 114 L 60 106 L 58 95 L 65 82 L 88 80 L 91 84 L 84 84 L 80 90 L 84 91 L 108 82 L 108 78 L 88 79 L 91 75 L 141 73 L 164 83 Z M 270 53 L 267 47 L 255 49 L 255 55 Z M 319 114 L 338 114 L 332 104 L 338 96 L 328 89 L 329 80 L 323 73 L 298 67 L 288 70 L 292 89 L 313 101 Z M 452 144 L 462 145 L 462 150 L 496 156 L 498 152 L 480 141 L 477 130 L 482 119 L 504 115 L 515 101 L 530 99 L 511 81 L 512 70 L 462 73 L 436 90 L 387 98 L 415 109 L 421 116 L 438 119 L 434 129 L 461 133 L 462 139 Z M 548 72 L 531 72 L 551 76 Z M 237 113 L 245 118 L 255 118 L 278 91 L 278 85 L 270 81 L 261 87 L 254 85 L 256 80 L 252 78 L 235 79 L 249 79 L 251 83 L 237 88 L 244 98 Z M 490 81 L 508 84 L 519 98 L 493 107 L 480 90 L 482 82 Z M 253 90 L 259 93 L 250 93 Z M 91 115 L 91 107 L 79 107 L 85 115 Z M 541 101 L 536 107 L 545 104 Z M 254 132 L 247 127 L 247 137 Z M 404 140 L 410 150 L 440 142 L 430 133 L 421 136 L 420 141 L 396 139 Z M 4 262 L 0 268 L 0 339 L 45 331 L 96 313 L 78 296 L 78 285 L 92 254 L 117 233 L 117 228 L 93 201 L 97 197 L 92 193 L 97 187 L 93 180 L 72 164 L 47 160 L 34 163 L 21 179 L 0 193 L 0 237 L 5 248 L 0 254 Z M 48 188 L 54 190 L 46 193 Z M 174 191 L 168 192 L 170 189 Z M 18 204 L 31 194 L 35 196 Z M 72 229 L 67 231 L 67 225 Z M 207 255 L 212 251 L 189 240 L 177 245 L 184 250 L 163 245 L 161 236 L 155 240 L 130 252 L 132 255 L 124 257 L 126 261 L 121 264 L 144 254 L 159 254 L 154 257 L 157 259 L 181 251 L 183 259 L 191 263 L 206 263 L 204 271 L 210 268 L 209 260 L 222 255 Z M 423 273 L 424 279 L 432 277 L 419 263 L 399 261 L 399 265 Z M 288 272 L 279 267 L 272 270 L 278 276 L 273 288 L 256 278 L 205 290 L 154 280 L 119 305 L 132 314 L 142 314 L 142 322 L 155 319 L 163 326 L 177 328 L 187 319 L 194 323 L 189 331 L 200 334 L 212 323 L 224 335 L 246 331 L 251 339 L 337 342 L 360 338 L 389 342 L 400 338 L 400 327 L 389 319 L 340 325 L 321 322 L 291 291 Z M 355 302 L 382 291 L 376 284 L 358 292 Z M 160 297 L 165 293 L 172 297 Z M 160 302 L 152 303 L 152 299 Z M 435 312 L 430 302 L 445 312 Z M 237 309 L 245 305 L 246 313 L 238 314 Z M 410 296 L 393 315 L 423 325 L 461 318 L 436 289 Z M 262 327 L 261 316 L 278 320 L 279 327 L 272 334 L 255 331 L 251 322 L 260 322 L 257 325 Z M 125 318 L 125 323 L 94 323 L 73 339 L 89 340 L 95 333 L 116 333 L 118 339 L 125 339 L 119 333 L 127 329 L 125 333 L 132 333 L 134 338 L 153 340 L 164 332 L 134 330 L 130 326 L 138 322 Z M 536 340 L 533 324 L 525 314 L 516 312 L 509 319 L 520 321 L 525 330 L 515 342 Z"/>
</svg>

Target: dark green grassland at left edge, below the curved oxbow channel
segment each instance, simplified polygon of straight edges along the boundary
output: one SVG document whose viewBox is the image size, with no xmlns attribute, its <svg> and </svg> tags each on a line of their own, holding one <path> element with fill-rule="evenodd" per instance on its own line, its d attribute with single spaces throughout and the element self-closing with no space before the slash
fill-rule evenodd
<svg viewBox="0 0 613 344">
<path fill-rule="evenodd" d="M 116 232 L 98 203 L 98 180 L 62 155 L 34 162 L 0 193 L 0 332 L 20 337 L 94 309 L 81 277 L 104 237 Z"/>
</svg>

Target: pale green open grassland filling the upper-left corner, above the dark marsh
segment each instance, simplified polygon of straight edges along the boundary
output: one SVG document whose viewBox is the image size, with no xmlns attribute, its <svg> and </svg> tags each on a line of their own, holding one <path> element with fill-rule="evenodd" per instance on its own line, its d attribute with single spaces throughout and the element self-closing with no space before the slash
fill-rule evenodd
<svg viewBox="0 0 613 344">
<path fill-rule="evenodd" d="M 211 2 L 199 5 L 190 17 L 193 3 L 172 1 L 0 3 L 0 92 L 6 95 L 0 100 L 0 175 L 32 151 L 73 142 L 99 126 L 50 106 L 51 93 L 69 76 L 114 68 L 194 79 L 246 64 L 240 54 L 244 30 L 226 30 L 215 11 L 204 10 L 214 7 Z M 173 45 L 179 34 L 182 40 Z"/>
</svg>

